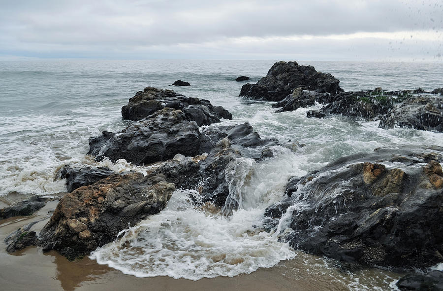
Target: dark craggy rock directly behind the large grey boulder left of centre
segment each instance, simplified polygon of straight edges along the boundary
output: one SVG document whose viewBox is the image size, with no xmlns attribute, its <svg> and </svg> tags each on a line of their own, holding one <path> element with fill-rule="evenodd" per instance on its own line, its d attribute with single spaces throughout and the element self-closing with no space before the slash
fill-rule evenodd
<svg viewBox="0 0 443 291">
<path fill-rule="evenodd" d="M 232 119 L 232 114 L 221 106 L 213 106 L 208 100 L 187 98 L 173 90 L 146 87 L 129 99 L 122 107 L 123 118 L 141 120 L 163 108 L 182 110 L 188 121 L 197 122 L 198 126 L 220 122 L 220 118 Z"/>
</svg>

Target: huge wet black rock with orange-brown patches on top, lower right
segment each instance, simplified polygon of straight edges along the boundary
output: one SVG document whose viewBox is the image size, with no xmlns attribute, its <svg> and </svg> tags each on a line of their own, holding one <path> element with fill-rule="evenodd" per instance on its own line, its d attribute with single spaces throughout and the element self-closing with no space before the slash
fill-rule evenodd
<svg viewBox="0 0 443 291">
<path fill-rule="evenodd" d="M 264 225 L 296 249 L 347 263 L 427 268 L 441 261 L 442 149 L 377 149 L 288 182 Z M 423 163 L 428 163 L 422 166 Z"/>
</svg>

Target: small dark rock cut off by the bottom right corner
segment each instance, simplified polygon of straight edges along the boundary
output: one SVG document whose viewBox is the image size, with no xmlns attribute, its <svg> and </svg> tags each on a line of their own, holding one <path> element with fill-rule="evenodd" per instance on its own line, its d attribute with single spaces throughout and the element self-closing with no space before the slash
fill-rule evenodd
<svg viewBox="0 0 443 291">
<path fill-rule="evenodd" d="M 427 275 L 408 274 L 395 285 L 401 291 L 442 291 L 443 271 L 434 270 Z"/>
</svg>

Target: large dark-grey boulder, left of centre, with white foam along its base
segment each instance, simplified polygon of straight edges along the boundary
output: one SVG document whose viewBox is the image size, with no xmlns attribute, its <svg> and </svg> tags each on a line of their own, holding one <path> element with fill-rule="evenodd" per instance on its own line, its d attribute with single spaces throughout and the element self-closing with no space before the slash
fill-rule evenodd
<svg viewBox="0 0 443 291">
<path fill-rule="evenodd" d="M 206 141 L 194 121 L 188 121 L 181 110 L 164 108 L 149 118 L 134 122 L 117 135 L 92 137 L 88 154 L 99 160 L 126 159 L 136 165 L 150 164 L 207 150 Z"/>
</svg>

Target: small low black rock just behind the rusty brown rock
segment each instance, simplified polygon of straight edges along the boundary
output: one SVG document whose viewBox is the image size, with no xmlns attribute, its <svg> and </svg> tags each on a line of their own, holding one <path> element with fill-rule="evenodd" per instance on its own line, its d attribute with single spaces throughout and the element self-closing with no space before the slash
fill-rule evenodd
<svg viewBox="0 0 443 291">
<path fill-rule="evenodd" d="M 72 192 L 78 187 L 94 184 L 112 174 L 115 174 L 115 172 L 103 167 L 71 168 L 66 165 L 61 171 L 61 178 L 66 179 L 67 191 Z"/>
</svg>

